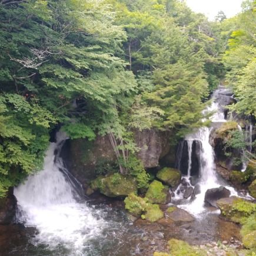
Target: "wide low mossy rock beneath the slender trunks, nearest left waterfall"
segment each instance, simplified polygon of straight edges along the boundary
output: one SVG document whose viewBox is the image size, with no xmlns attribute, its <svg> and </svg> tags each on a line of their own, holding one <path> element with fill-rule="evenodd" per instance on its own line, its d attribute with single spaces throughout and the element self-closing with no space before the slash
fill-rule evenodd
<svg viewBox="0 0 256 256">
<path fill-rule="evenodd" d="M 126 197 L 131 193 L 137 193 L 135 179 L 118 173 L 94 179 L 91 182 L 91 188 L 99 189 L 101 194 L 107 195 L 107 197 Z"/>
</svg>

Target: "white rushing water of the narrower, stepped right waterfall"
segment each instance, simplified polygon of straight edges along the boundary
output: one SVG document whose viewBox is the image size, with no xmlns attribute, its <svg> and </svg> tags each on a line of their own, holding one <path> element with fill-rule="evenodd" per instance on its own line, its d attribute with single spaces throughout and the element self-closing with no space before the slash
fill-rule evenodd
<svg viewBox="0 0 256 256">
<path fill-rule="evenodd" d="M 224 87 L 219 87 L 214 92 L 212 96 L 212 104 L 207 108 L 206 111 L 214 111 L 214 114 L 211 117 L 212 123 L 222 123 L 226 122 L 224 115 L 224 107 L 221 105 L 220 95 L 221 97 L 225 97 L 225 93 L 228 92 Z M 191 212 L 194 215 L 199 216 L 202 212 L 205 211 L 204 207 L 204 197 L 207 189 L 210 188 L 218 188 L 221 185 L 225 185 L 223 181 L 219 181 L 215 171 L 215 163 L 214 163 L 214 149 L 210 145 L 210 132 L 212 127 L 202 127 L 198 129 L 198 131 L 187 135 L 185 137 L 185 141 L 188 144 L 188 175 L 184 177 L 186 181 L 189 182 L 189 177 L 191 175 L 191 159 L 192 159 L 192 143 L 194 141 L 200 142 L 200 159 L 199 159 L 199 172 L 200 178 L 197 183 L 197 186 L 200 188 L 200 193 L 195 195 L 195 198 L 191 201 L 191 198 L 181 205 L 180 207 L 185 210 Z M 190 183 L 190 182 L 189 182 Z M 231 191 L 231 195 L 237 195 L 237 192 L 234 188 L 225 185 Z M 179 189 L 179 188 L 178 188 Z M 177 190 L 178 190 L 177 189 Z M 175 198 L 181 200 L 182 194 L 177 194 L 177 191 L 174 193 Z M 183 200 L 184 202 L 184 200 Z"/>
</svg>

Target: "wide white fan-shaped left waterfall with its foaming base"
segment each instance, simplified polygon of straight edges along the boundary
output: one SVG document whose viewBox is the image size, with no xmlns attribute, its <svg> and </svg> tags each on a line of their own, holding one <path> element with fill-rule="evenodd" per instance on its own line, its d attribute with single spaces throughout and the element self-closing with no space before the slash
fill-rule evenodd
<svg viewBox="0 0 256 256">
<path fill-rule="evenodd" d="M 92 209 L 78 200 L 77 190 L 60 171 L 64 166 L 58 151 L 64 139 L 58 133 L 57 142 L 51 143 L 46 152 L 44 169 L 14 189 L 19 208 L 17 218 L 26 227 L 39 231 L 39 243 L 50 247 L 61 244 L 72 250 L 70 255 L 82 255 L 88 241 L 101 234 L 106 223 L 95 218 Z"/>
</svg>

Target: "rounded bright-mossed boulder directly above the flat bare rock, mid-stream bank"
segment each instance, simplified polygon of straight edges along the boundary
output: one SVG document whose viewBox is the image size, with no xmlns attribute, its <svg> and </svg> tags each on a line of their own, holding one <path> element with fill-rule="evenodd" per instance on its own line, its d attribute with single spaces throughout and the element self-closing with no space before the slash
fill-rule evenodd
<svg viewBox="0 0 256 256">
<path fill-rule="evenodd" d="M 156 180 L 149 185 L 145 197 L 153 204 L 167 204 L 171 199 L 168 187 L 165 187 L 162 182 Z"/>
</svg>

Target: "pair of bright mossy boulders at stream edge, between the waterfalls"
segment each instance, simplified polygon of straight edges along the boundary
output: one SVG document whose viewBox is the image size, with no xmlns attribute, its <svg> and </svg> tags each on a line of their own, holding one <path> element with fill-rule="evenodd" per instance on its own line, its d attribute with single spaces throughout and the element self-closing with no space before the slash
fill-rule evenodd
<svg viewBox="0 0 256 256">
<path fill-rule="evenodd" d="M 151 204 L 148 198 L 141 198 L 135 194 L 129 194 L 124 200 L 125 209 L 135 217 L 141 216 L 142 219 L 154 222 L 164 217 L 164 212 L 161 211 L 159 205 Z"/>
</svg>

